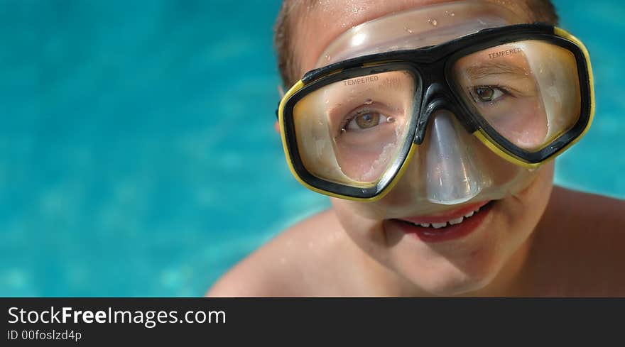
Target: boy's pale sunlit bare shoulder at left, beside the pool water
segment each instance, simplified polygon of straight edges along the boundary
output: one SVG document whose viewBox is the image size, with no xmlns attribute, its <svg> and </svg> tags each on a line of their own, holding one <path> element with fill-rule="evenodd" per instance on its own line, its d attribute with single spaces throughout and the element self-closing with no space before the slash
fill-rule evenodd
<svg viewBox="0 0 625 347">
<path fill-rule="evenodd" d="M 330 294 L 340 276 L 339 258 L 354 247 L 332 209 L 278 234 L 222 276 L 210 297 L 312 296 Z M 337 281 L 335 281 L 337 282 Z M 332 295 L 332 294 L 330 294 Z"/>
</svg>

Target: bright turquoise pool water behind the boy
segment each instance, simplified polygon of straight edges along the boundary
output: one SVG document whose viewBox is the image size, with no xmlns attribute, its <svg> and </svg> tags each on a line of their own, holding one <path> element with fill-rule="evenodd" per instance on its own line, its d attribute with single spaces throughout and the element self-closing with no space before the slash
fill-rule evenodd
<svg viewBox="0 0 625 347">
<path fill-rule="evenodd" d="M 596 121 L 556 181 L 625 198 L 620 1 L 555 1 Z M 0 1 L 0 296 L 198 296 L 329 206 L 273 131 L 279 1 Z"/>
</svg>

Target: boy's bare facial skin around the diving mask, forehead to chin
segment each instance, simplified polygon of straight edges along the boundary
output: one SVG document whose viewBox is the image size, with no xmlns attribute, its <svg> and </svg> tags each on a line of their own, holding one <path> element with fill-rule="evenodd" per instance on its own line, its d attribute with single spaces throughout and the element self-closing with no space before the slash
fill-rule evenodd
<svg viewBox="0 0 625 347">
<path fill-rule="evenodd" d="M 294 57 L 301 67 L 300 75 L 317 67 L 317 61 L 327 45 L 347 29 L 388 13 L 440 2 L 450 1 L 319 1 L 306 16 L 297 18 L 298 23 L 294 27 Z M 516 17 L 516 23 L 532 22 L 528 13 L 523 11 L 521 1 L 506 1 L 505 4 Z M 461 14 L 458 17 L 462 17 Z M 471 14 L 464 14 L 465 19 L 468 16 L 471 20 Z M 475 18 L 475 21 L 478 20 L 479 17 Z M 411 28 L 415 35 L 426 31 L 432 23 L 430 21 L 420 25 L 423 28 L 418 23 Z M 465 34 L 451 31 L 450 35 L 441 40 L 451 40 Z M 431 124 L 426 132 L 431 131 L 430 128 Z M 467 137 L 471 136 L 467 134 Z M 474 139 L 467 141 L 469 145 L 484 146 Z M 424 149 L 423 153 L 428 151 Z M 517 167 L 489 150 L 484 153 L 487 153 L 487 162 L 497 167 L 497 170 L 518 172 Z M 522 262 L 528 250 L 529 236 L 545 210 L 552 188 L 553 162 L 533 172 L 522 172 L 518 180 L 522 183 L 501 199 L 491 201 L 478 194 L 468 202 L 455 205 L 423 204 L 402 198 L 406 194 L 399 192 L 400 189 L 416 189 L 414 187 L 423 186 L 420 180 L 425 180 L 423 175 L 418 175 L 419 171 L 413 162 L 408 165 L 397 186 L 378 202 L 332 199 L 339 221 L 349 236 L 369 255 L 411 282 L 415 293 L 425 290 L 440 295 L 460 294 L 479 290 L 490 283 L 500 285 L 505 282 L 505 274 L 514 272 Z M 462 216 L 485 203 L 489 205 L 471 219 L 464 219 L 457 227 L 458 231 L 442 237 L 442 229 L 431 230 L 433 237 L 428 237 L 427 232 L 422 230 L 420 234 L 413 233 L 415 227 L 408 227 L 396 220 L 413 219 L 435 223 L 445 216 Z M 379 213 L 388 209 L 388 206 L 401 212 L 396 212 L 393 218 Z M 500 273 L 501 276 L 498 276 Z"/>
</svg>

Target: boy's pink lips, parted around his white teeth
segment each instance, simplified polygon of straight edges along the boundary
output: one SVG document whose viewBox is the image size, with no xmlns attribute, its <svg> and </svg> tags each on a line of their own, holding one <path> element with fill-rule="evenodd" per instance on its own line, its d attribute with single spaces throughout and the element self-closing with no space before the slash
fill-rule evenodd
<svg viewBox="0 0 625 347">
<path fill-rule="evenodd" d="M 494 202 L 493 202 L 494 203 Z M 409 219 L 391 219 L 391 223 L 399 228 L 401 231 L 407 234 L 414 235 L 420 238 L 421 241 L 428 243 L 437 243 L 443 241 L 451 241 L 457 238 L 463 238 L 475 231 L 487 218 L 493 204 L 489 202 L 482 202 L 479 204 L 472 204 L 457 209 L 447 214 L 439 214 L 437 216 L 425 216 L 413 217 Z M 404 221 L 411 221 L 413 223 L 442 223 L 443 221 L 449 221 L 450 219 L 457 218 L 458 216 L 464 216 L 464 214 L 470 211 L 476 210 L 478 207 L 482 207 L 473 216 L 465 219 L 460 224 L 445 226 L 444 228 L 425 228 L 423 226 L 413 226 Z M 463 214 L 464 213 L 464 214 Z"/>
</svg>

